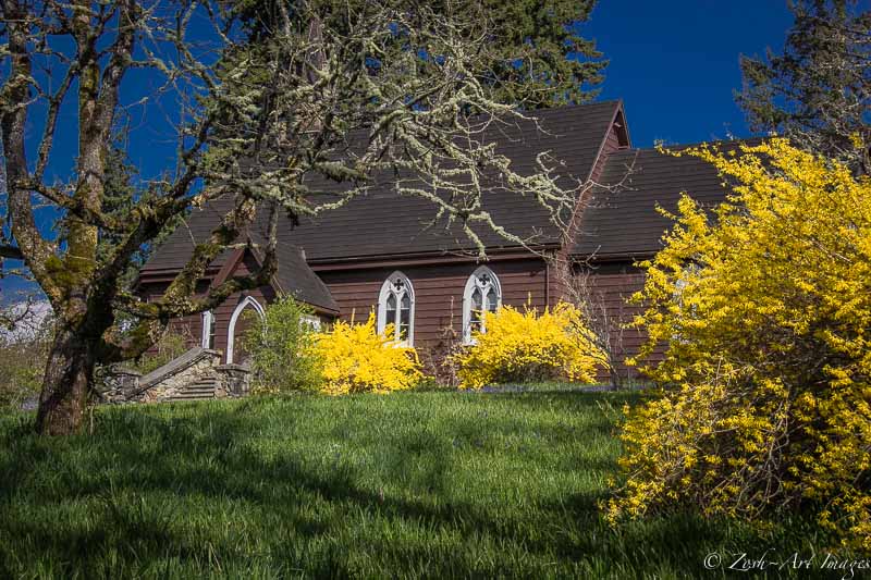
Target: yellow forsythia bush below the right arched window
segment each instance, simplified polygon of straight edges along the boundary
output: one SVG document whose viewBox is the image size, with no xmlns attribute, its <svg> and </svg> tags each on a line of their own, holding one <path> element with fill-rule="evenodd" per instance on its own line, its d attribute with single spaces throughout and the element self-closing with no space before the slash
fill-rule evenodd
<svg viewBox="0 0 871 580">
<path fill-rule="evenodd" d="M 574 306 L 561 303 L 541 314 L 536 308 L 503 306 L 483 316 L 487 332 L 475 333 L 475 344 L 454 355 L 461 387 L 559 378 L 594 381 L 599 351 Z"/>
</svg>

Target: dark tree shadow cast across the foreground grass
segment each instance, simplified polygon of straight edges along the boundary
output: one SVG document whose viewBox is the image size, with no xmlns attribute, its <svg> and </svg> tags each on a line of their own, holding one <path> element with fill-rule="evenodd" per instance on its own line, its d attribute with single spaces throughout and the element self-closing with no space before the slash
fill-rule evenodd
<svg viewBox="0 0 871 580">
<path fill-rule="evenodd" d="M 592 412 L 601 400 L 484 396 L 561 412 Z M 289 417 L 287 429 L 305 436 Z M 446 443 L 451 434 L 410 430 L 383 442 L 396 454 L 392 466 L 366 468 L 340 452 L 318 462 L 306 447 L 287 449 L 281 432 L 265 432 L 265 419 L 261 405 L 246 400 L 111 409 L 96 435 L 69 440 L 0 423 L 0 576 L 696 577 L 704 554 L 756 541 L 690 516 L 613 530 L 599 510 L 604 488 L 516 507 L 486 501 L 486 489 L 481 502 L 457 499 L 450 478 L 456 454 L 466 455 Z M 456 431 L 474 434 L 475 421 Z M 601 437 L 611 425 L 585 429 L 562 436 Z M 380 469 L 390 483 L 413 465 L 422 466 L 422 489 L 384 493 L 367 479 L 367 469 Z M 613 457 L 594 456 L 577 470 L 613 467 Z"/>
</svg>

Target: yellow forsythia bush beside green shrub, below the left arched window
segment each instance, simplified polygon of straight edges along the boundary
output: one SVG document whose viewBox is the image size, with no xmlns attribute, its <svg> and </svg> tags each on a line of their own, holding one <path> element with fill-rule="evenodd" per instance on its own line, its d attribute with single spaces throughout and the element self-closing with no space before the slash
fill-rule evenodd
<svg viewBox="0 0 871 580">
<path fill-rule="evenodd" d="M 391 325 L 378 334 L 375 314 L 364 324 L 338 321 L 331 332 L 316 334 L 310 348 L 320 366 L 321 392 L 388 393 L 419 383 L 424 374 L 415 349 L 388 336 L 393 336 Z"/>
</svg>

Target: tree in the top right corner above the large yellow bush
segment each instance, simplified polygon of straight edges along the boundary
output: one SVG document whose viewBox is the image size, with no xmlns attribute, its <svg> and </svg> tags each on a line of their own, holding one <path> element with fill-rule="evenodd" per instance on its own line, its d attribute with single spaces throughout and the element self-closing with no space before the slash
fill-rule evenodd
<svg viewBox="0 0 871 580">
<path fill-rule="evenodd" d="M 851 0 L 790 7 L 795 24 L 783 54 L 741 58 L 738 104 L 753 131 L 871 174 L 871 11 Z"/>
</svg>

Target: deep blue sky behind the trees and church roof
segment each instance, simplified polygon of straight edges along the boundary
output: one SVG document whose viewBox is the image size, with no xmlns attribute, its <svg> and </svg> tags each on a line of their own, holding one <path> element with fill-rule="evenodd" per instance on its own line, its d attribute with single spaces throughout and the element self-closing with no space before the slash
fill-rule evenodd
<svg viewBox="0 0 871 580">
<path fill-rule="evenodd" d="M 510 1 L 510 0 L 506 0 Z M 733 90 L 740 87 L 739 54 L 780 52 L 792 15 L 786 0 L 600 0 L 581 26 L 610 60 L 600 99 L 623 99 L 633 145 L 650 147 L 749 135 Z M 125 78 L 126 101 L 150 92 L 145 73 Z M 170 103 L 134 111 L 131 161 L 146 176 L 172 170 Z M 61 112 L 49 173 L 69 174 L 75 159 L 75 103 Z M 36 133 L 35 135 L 36 136 Z M 35 141 L 30 144 L 35 147 Z M 48 225 L 48 224 L 46 224 Z M 21 281 L 0 281 L 0 301 Z"/>
</svg>

